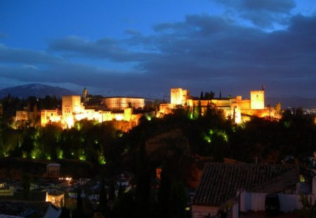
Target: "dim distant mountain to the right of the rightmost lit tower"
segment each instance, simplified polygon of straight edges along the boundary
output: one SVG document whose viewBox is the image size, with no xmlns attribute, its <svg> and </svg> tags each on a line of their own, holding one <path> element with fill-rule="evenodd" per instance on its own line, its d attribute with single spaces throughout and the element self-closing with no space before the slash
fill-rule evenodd
<svg viewBox="0 0 316 218">
<path fill-rule="evenodd" d="M 281 102 L 282 109 L 292 108 L 305 108 L 305 109 L 316 109 L 316 98 L 305 98 L 305 97 L 267 97 L 265 105 L 270 104 L 271 107 L 275 107 L 277 102 Z"/>
</svg>

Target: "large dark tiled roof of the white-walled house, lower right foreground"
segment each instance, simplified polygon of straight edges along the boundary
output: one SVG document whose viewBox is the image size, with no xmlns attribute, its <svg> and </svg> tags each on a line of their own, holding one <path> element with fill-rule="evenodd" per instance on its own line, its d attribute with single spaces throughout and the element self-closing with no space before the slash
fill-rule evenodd
<svg viewBox="0 0 316 218">
<path fill-rule="evenodd" d="M 294 169 L 294 165 L 206 163 L 193 204 L 219 206 L 236 196 L 237 189 L 254 189 Z"/>
</svg>

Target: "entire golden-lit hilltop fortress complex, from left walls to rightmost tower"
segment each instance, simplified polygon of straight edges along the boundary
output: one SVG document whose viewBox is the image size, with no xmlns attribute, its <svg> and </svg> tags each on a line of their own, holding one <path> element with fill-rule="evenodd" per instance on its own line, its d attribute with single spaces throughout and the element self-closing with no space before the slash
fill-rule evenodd
<svg viewBox="0 0 316 218">
<path fill-rule="evenodd" d="M 202 114 L 207 107 L 221 109 L 226 118 L 231 118 L 235 123 L 246 121 L 251 116 L 275 117 L 275 109 L 265 107 L 264 90 L 251 90 L 250 100 L 237 97 L 211 97 L 208 99 L 190 96 L 189 90 L 171 88 L 170 104 L 161 103 L 159 111 L 144 110 L 145 99 L 140 97 L 102 97 L 98 101 L 91 101 L 88 91 L 84 88 L 82 96 L 69 95 L 62 97 L 61 109 L 41 109 L 41 111 L 16 111 L 15 121 L 31 121 L 40 118 L 41 126 L 47 123 L 61 123 L 64 128 L 71 128 L 76 121 L 82 119 L 103 121 L 128 121 L 134 125 L 143 116 L 162 117 L 171 114 L 175 109 L 183 107 L 189 111 L 196 107 Z"/>
</svg>

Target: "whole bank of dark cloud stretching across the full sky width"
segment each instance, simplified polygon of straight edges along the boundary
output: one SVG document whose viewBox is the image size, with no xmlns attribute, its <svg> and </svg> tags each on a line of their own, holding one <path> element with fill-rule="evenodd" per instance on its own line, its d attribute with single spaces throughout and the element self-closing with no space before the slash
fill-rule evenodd
<svg viewBox="0 0 316 218">
<path fill-rule="evenodd" d="M 255 8 L 255 6 L 252 6 Z M 268 7 L 268 6 L 267 6 Z M 272 9 L 271 9 L 272 10 Z M 48 52 L 0 46 L 0 76 L 164 95 L 171 87 L 249 95 L 262 84 L 275 95 L 316 95 L 316 17 L 295 15 L 287 29 L 265 32 L 229 18 L 187 15 L 155 25 L 154 34 L 129 30 L 127 39 L 51 41 Z M 73 57 L 133 62 L 129 71 L 92 67 Z"/>
</svg>

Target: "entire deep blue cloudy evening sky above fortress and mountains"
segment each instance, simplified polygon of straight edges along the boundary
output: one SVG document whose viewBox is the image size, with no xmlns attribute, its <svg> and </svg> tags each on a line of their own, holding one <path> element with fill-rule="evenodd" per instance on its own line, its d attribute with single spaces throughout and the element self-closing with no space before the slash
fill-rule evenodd
<svg viewBox="0 0 316 218">
<path fill-rule="evenodd" d="M 0 1 L 0 88 L 316 97 L 315 0 Z"/>
</svg>

